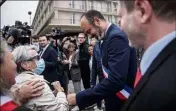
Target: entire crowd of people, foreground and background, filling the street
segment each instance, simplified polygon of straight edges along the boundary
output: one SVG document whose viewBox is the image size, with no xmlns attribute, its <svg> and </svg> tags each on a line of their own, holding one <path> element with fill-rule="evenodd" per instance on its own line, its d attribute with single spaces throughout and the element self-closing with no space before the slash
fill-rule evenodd
<svg viewBox="0 0 176 111">
<path fill-rule="evenodd" d="M 0 110 L 69 111 L 104 104 L 106 111 L 175 111 L 175 6 L 174 0 L 120 1 L 120 26 L 89 10 L 76 36 L 35 35 L 26 45 L 13 35 L 1 37 Z"/>
</svg>

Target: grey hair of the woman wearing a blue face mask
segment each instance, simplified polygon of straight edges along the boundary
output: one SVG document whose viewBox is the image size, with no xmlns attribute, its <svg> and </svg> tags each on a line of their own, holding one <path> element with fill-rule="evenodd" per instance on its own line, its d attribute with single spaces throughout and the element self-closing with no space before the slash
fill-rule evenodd
<svg viewBox="0 0 176 111">
<path fill-rule="evenodd" d="M 31 55 L 28 53 L 29 50 L 33 49 L 31 46 L 18 46 L 16 47 L 12 55 L 14 57 L 14 61 L 17 64 L 17 72 L 21 73 L 24 69 L 21 66 L 22 62 L 25 62 L 31 58 Z"/>
</svg>

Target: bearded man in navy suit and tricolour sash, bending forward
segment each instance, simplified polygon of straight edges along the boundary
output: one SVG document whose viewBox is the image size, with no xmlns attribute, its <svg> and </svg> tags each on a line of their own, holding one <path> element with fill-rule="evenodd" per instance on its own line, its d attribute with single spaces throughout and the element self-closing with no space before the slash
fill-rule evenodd
<svg viewBox="0 0 176 111">
<path fill-rule="evenodd" d="M 80 109 L 85 109 L 104 99 L 106 111 L 119 111 L 125 97 L 128 98 L 133 88 L 137 70 L 135 49 L 129 46 L 125 33 L 116 25 L 108 23 L 96 10 L 90 10 L 82 15 L 81 28 L 84 33 L 96 35 L 101 40 L 105 79 L 92 88 L 68 95 L 68 102 L 70 105 L 77 104 Z"/>
</svg>

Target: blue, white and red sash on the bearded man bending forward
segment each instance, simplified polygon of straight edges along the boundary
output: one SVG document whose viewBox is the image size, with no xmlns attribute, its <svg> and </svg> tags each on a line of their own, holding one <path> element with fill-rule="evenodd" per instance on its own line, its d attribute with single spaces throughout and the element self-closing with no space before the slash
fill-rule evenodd
<svg viewBox="0 0 176 111">
<path fill-rule="evenodd" d="M 107 70 L 103 64 L 102 65 L 102 70 L 103 70 L 103 75 L 105 78 L 108 78 L 109 70 Z M 122 89 L 121 91 L 117 92 L 116 95 L 121 99 L 121 100 L 126 100 L 132 93 L 132 89 L 128 87 L 127 85 Z"/>
</svg>

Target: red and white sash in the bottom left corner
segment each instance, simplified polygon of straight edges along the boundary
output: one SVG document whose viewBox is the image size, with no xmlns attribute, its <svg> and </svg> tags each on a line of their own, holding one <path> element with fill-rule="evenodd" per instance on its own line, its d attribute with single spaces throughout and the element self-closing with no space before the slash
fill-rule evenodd
<svg viewBox="0 0 176 111">
<path fill-rule="evenodd" d="M 0 96 L 0 111 L 12 111 L 18 107 L 17 104 L 8 96 Z"/>
</svg>

